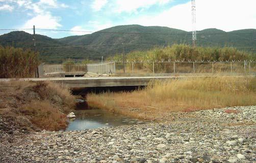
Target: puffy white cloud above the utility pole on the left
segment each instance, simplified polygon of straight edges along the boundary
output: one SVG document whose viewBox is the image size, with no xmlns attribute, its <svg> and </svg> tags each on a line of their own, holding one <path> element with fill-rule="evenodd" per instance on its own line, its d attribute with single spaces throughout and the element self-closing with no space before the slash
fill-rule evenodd
<svg viewBox="0 0 256 163">
<path fill-rule="evenodd" d="M 57 29 L 62 25 L 59 23 L 60 18 L 52 16 L 50 13 L 45 13 L 44 15 L 37 15 L 32 19 L 28 20 L 22 28 L 46 28 L 46 29 Z"/>
</svg>

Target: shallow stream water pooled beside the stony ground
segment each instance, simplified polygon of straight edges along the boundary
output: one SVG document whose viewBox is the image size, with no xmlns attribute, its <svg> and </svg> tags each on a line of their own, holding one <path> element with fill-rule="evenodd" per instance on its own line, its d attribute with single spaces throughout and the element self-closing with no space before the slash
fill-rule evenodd
<svg viewBox="0 0 256 163">
<path fill-rule="evenodd" d="M 76 110 L 76 118 L 70 120 L 66 131 L 81 131 L 98 127 L 120 126 L 144 123 L 137 119 L 131 119 L 122 115 L 115 115 L 111 112 L 94 109 L 94 110 Z"/>
</svg>

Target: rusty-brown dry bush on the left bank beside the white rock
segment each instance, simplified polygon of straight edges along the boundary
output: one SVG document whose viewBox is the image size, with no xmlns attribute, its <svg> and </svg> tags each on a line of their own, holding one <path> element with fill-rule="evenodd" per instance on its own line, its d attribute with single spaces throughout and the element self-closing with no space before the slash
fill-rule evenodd
<svg viewBox="0 0 256 163">
<path fill-rule="evenodd" d="M 20 113 L 41 129 L 59 131 L 67 127 L 66 115 L 49 101 L 32 101 L 20 108 Z"/>
</svg>

